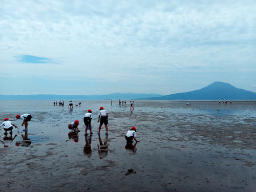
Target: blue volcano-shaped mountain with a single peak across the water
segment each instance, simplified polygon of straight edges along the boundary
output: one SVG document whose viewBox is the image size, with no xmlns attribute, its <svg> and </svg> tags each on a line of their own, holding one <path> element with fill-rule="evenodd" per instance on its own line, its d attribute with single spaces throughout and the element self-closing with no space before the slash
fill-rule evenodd
<svg viewBox="0 0 256 192">
<path fill-rule="evenodd" d="M 152 100 L 256 100 L 256 93 L 238 89 L 229 83 L 214 82 L 209 86 L 196 91 L 176 93 L 162 97 L 144 99 Z"/>
</svg>

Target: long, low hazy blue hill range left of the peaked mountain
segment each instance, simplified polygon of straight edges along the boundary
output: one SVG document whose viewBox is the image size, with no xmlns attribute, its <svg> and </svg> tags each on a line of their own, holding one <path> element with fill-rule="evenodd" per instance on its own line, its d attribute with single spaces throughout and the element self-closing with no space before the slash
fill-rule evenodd
<svg viewBox="0 0 256 192">
<path fill-rule="evenodd" d="M 109 95 L 0 95 L 0 100 L 129 100 L 146 97 L 161 97 L 158 94 L 112 93 Z"/>
</svg>

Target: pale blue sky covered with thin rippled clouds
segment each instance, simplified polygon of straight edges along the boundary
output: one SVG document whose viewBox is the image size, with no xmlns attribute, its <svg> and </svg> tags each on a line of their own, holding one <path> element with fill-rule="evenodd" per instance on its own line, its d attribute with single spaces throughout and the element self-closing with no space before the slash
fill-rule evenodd
<svg viewBox="0 0 256 192">
<path fill-rule="evenodd" d="M 256 1 L 0 0 L 0 94 L 256 92 Z"/>
</svg>

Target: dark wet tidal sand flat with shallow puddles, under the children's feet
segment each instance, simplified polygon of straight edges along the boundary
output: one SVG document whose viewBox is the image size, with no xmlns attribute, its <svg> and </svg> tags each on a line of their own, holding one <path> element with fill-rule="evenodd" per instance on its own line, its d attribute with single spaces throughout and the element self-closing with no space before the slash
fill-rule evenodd
<svg viewBox="0 0 256 192">
<path fill-rule="evenodd" d="M 14 111 L 8 102 L 1 101 L 2 119 L 23 112 L 24 106 L 12 103 Z M 27 138 L 20 126 L 13 141 L 4 141 L 1 128 L 0 139 L 9 146 L 0 148 L 0 191 L 255 191 L 255 101 L 187 106 L 187 101 L 136 100 L 132 113 L 129 105 L 110 101 L 82 101 L 73 111 L 67 103 L 40 102 L 27 104 L 32 115 Z M 109 136 L 103 126 L 97 135 L 101 105 L 109 112 Z M 93 135 L 85 137 L 88 109 Z M 68 123 L 76 119 L 81 132 L 70 133 Z M 140 142 L 127 145 L 124 136 L 132 126 Z"/>
</svg>

